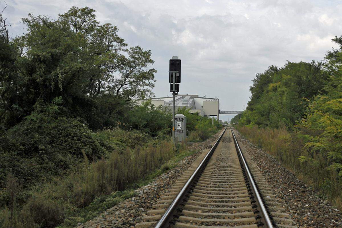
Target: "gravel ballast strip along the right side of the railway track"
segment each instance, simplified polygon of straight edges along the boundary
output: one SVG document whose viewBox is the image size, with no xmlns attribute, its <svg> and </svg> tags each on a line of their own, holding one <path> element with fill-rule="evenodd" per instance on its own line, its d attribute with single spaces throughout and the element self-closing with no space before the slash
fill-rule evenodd
<svg viewBox="0 0 342 228">
<path fill-rule="evenodd" d="M 298 227 L 342 227 L 342 213 L 339 210 L 320 199 L 271 155 L 238 132 L 236 136 L 242 149 L 249 153 L 268 184 L 273 186 L 277 198 L 282 199 L 286 213 Z"/>
</svg>

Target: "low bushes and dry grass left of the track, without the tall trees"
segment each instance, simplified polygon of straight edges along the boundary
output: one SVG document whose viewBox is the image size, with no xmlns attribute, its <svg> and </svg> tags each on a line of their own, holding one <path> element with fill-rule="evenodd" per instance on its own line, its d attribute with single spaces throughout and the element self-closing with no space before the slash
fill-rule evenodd
<svg viewBox="0 0 342 228">
<path fill-rule="evenodd" d="M 145 109 L 143 105 L 143 109 L 159 113 L 163 108 Z M 179 111 L 189 117 L 193 131 L 199 132 L 202 138 L 198 137 L 198 141 L 217 132 L 217 121 L 212 125 L 210 119 L 190 114 L 187 109 Z M 149 118 L 147 113 L 142 114 Z M 166 125 L 171 122 L 166 121 Z M 4 187 L 0 191 L 0 224 L 56 227 L 62 223 L 59 227 L 74 227 L 133 194 L 116 197 L 118 191 L 136 187 L 137 180 L 150 177 L 159 168 L 159 173 L 167 171 L 173 166 L 175 156 L 189 155 L 185 145 L 174 150 L 163 129 L 151 134 L 156 135 L 152 137 L 143 130 L 124 130 L 129 124 L 118 125 L 123 129 L 92 132 L 77 119 L 37 115 L 36 119 L 6 131 L 1 152 Z M 171 131 L 170 127 L 166 129 Z M 39 148 L 34 147 L 37 144 Z M 17 148 L 22 152 L 18 153 Z"/>
</svg>

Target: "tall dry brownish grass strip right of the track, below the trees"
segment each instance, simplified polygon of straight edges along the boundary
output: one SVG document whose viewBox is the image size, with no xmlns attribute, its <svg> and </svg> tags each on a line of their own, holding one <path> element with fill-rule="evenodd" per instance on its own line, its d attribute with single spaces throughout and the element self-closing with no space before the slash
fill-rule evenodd
<svg viewBox="0 0 342 228">
<path fill-rule="evenodd" d="M 238 126 L 239 132 L 294 172 L 303 182 L 342 209 L 342 181 L 335 170 L 329 169 L 329 161 L 319 153 L 304 149 L 297 133 L 282 129 L 259 129 Z M 300 160 L 300 156 L 309 159 Z"/>
</svg>

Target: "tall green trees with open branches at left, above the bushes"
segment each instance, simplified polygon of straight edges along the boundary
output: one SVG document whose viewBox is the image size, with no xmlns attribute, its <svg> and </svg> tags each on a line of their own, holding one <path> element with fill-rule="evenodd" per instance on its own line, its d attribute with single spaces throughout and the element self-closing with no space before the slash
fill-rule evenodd
<svg viewBox="0 0 342 228">
<path fill-rule="evenodd" d="M 30 115 L 38 102 L 49 104 L 61 96 L 65 115 L 101 128 L 115 123 L 132 99 L 153 94 L 151 52 L 128 48 L 116 26 L 96 21 L 95 10 L 72 7 L 56 20 L 29 14 L 23 23 L 27 33 L 0 50 L 8 53 L 1 71 L 15 72 L 0 84 L 6 127 Z"/>
</svg>

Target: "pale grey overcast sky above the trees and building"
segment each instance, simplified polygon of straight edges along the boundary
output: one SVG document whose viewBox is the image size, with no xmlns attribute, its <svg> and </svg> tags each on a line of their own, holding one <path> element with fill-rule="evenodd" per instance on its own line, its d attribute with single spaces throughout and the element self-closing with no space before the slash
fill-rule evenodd
<svg viewBox="0 0 342 228">
<path fill-rule="evenodd" d="M 95 9 L 131 45 L 152 51 L 155 95 L 169 92 L 168 64 L 182 59 L 180 93 L 218 97 L 220 108 L 242 110 L 256 73 L 271 65 L 321 61 L 342 35 L 342 1 L 302 0 L 6 0 L 12 36 L 25 32 L 20 18 L 57 18 L 71 6 Z M 4 6 L 1 2 L 0 6 Z M 2 7 L 3 8 L 3 7 Z"/>
</svg>

